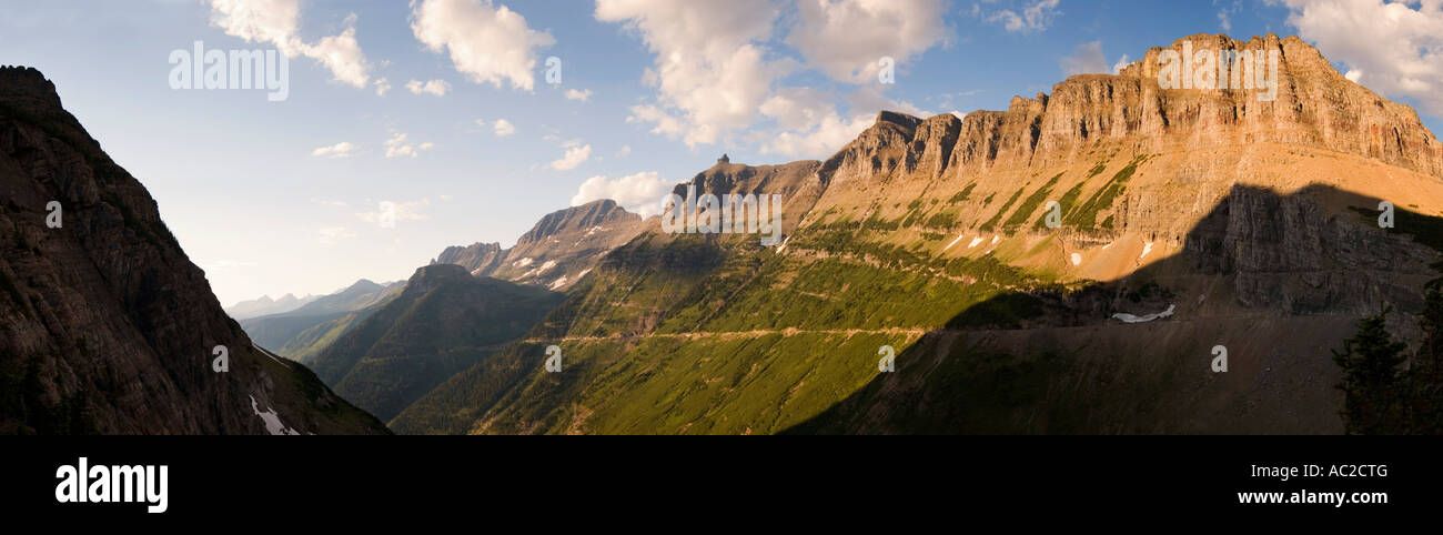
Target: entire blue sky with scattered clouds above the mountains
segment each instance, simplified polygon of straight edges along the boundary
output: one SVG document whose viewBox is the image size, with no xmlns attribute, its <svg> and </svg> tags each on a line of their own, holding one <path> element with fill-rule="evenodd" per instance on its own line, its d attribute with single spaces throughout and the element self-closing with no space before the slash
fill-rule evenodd
<svg viewBox="0 0 1443 535">
<path fill-rule="evenodd" d="M 0 3 L 0 63 L 55 82 L 227 306 L 654 213 L 723 153 L 825 159 L 880 110 L 1006 110 L 1195 33 L 1299 35 L 1443 131 L 1443 0 Z M 284 100 L 182 79 L 196 42 L 287 58 Z"/>
</svg>

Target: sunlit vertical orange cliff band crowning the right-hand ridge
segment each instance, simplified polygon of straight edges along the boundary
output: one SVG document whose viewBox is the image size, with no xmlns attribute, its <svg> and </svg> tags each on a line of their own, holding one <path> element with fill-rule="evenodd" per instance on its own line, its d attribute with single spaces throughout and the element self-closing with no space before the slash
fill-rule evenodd
<svg viewBox="0 0 1443 535">
<path fill-rule="evenodd" d="M 1127 141 L 1150 153 L 1276 141 L 1443 176 L 1443 143 L 1413 108 L 1343 78 L 1302 39 L 1198 35 L 1167 49 L 1180 53 L 1186 42 L 1195 53 L 1277 52 L 1276 100 L 1260 100 L 1257 89 L 1163 89 L 1157 75 L 1166 49 L 1154 48 L 1121 75 L 1072 76 L 1051 95 L 1013 98 L 1007 111 L 975 111 L 960 121 L 883 112 L 873 128 L 843 149 L 837 172 L 841 179 L 879 174 L 903 162 L 908 173 L 921 167 L 934 176 L 999 164 L 1046 167 L 1107 141 Z M 905 151 L 898 151 L 902 147 Z"/>
</svg>

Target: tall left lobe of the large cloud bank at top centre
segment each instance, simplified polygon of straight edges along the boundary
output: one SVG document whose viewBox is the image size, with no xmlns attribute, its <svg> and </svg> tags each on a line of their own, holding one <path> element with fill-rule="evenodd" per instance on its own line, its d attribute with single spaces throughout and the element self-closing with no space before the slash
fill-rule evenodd
<svg viewBox="0 0 1443 535">
<path fill-rule="evenodd" d="M 693 147 L 750 125 L 795 66 L 763 45 L 778 14 L 768 0 L 597 0 L 596 20 L 626 25 L 655 55 L 645 81 L 657 98 L 632 107 L 628 121 Z"/>
</svg>

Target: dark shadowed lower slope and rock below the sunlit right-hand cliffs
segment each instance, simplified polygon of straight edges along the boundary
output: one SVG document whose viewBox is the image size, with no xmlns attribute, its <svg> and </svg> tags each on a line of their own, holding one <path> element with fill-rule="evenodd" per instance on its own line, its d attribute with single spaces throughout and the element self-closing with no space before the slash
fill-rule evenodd
<svg viewBox="0 0 1443 535">
<path fill-rule="evenodd" d="M 1387 306 L 1417 343 L 1408 316 L 1443 251 L 1443 219 L 1400 208 L 1382 229 L 1378 205 L 1329 186 L 1234 186 L 1182 252 L 973 306 L 902 350 L 895 372 L 784 433 L 1342 433 L 1329 350 Z"/>
</svg>

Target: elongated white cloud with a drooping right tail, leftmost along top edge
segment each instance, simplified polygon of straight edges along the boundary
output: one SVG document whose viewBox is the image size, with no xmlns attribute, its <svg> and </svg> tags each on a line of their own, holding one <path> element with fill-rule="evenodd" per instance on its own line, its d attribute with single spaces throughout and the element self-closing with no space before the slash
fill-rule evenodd
<svg viewBox="0 0 1443 535">
<path fill-rule="evenodd" d="M 330 69 L 335 81 L 364 88 L 369 82 L 371 62 L 361 52 L 355 36 L 355 16 L 346 17 L 346 30 L 307 45 L 297 35 L 300 0 L 209 0 L 211 25 L 247 42 L 270 43 L 286 56 L 315 59 Z"/>
</svg>

